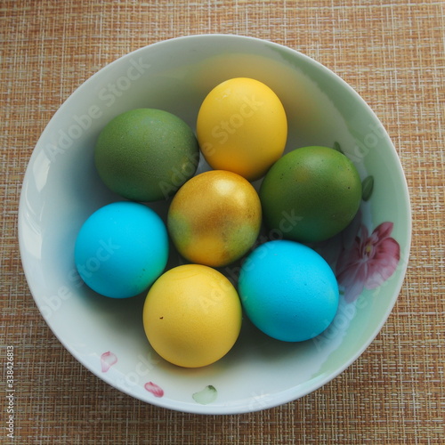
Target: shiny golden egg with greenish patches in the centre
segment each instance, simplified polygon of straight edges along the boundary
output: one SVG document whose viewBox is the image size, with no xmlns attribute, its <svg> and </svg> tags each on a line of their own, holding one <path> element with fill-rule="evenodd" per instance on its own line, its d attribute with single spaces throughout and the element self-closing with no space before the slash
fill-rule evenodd
<svg viewBox="0 0 445 445">
<path fill-rule="evenodd" d="M 239 174 L 211 170 L 174 195 L 167 227 L 174 246 L 192 263 L 220 267 L 245 255 L 260 231 L 260 198 Z"/>
</svg>

